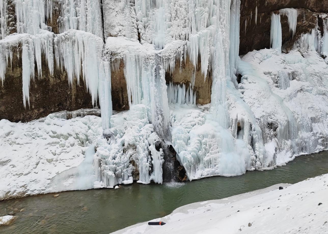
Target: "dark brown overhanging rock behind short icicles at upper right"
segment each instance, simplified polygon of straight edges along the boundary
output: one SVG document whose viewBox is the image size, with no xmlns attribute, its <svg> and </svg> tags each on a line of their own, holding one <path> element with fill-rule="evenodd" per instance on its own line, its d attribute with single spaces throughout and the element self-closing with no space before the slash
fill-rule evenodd
<svg viewBox="0 0 328 234">
<path fill-rule="evenodd" d="M 256 6 L 257 24 L 255 24 Z M 315 28 L 318 12 L 328 12 L 328 1 L 241 0 L 239 54 L 246 54 L 254 49 L 270 48 L 271 15 L 272 12 L 278 13 L 278 10 L 283 8 L 298 9 L 297 28 L 294 37 L 289 31 L 287 16 L 281 15 L 282 44 L 286 44 L 288 49 L 301 33 L 306 33 Z"/>
</svg>

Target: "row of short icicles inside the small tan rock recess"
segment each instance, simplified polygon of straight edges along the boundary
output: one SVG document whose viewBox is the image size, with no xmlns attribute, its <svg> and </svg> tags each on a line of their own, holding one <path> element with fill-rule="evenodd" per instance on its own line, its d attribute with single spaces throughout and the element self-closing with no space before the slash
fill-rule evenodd
<svg viewBox="0 0 328 234">
<path fill-rule="evenodd" d="M 167 86 L 167 95 L 169 103 L 179 104 L 179 105 L 196 105 L 196 93 L 193 90 L 191 83 L 189 87 L 186 88 L 186 85 L 174 84 L 170 82 Z"/>
</svg>

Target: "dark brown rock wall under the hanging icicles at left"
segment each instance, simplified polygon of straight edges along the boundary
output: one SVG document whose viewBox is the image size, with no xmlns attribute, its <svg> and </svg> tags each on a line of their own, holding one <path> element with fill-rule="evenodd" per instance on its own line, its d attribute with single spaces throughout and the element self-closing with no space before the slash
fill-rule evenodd
<svg viewBox="0 0 328 234">
<path fill-rule="evenodd" d="M 15 53 L 14 53 L 15 54 Z M 91 96 L 81 80 L 69 87 L 66 72 L 54 71 L 49 74 L 45 61 L 42 66 L 42 77 L 38 78 L 35 66 L 35 78 L 31 80 L 30 106 L 23 105 L 22 60 L 14 55 L 12 69 L 7 69 L 3 87 L 0 87 L 0 119 L 12 122 L 31 121 L 50 113 L 62 110 L 92 108 Z"/>
</svg>

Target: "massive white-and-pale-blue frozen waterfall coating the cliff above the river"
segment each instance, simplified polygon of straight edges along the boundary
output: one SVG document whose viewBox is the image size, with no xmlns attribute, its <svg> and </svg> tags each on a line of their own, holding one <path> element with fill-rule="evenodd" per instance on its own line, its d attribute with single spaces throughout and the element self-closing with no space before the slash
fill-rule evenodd
<svg viewBox="0 0 328 234">
<path fill-rule="evenodd" d="M 8 4 L 15 4 L 17 15 L 17 33 L 11 35 Z M 323 32 L 317 26 L 301 35 L 284 54 L 280 17 L 288 17 L 294 36 L 297 10 L 272 13 L 272 49 L 240 59 L 240 0 L 6 0 L 0 13 L 0 79 L 3 85 L 14 57 L 21 58 L 26 108 L 30 84 L 35 73 L 41 79 L 42 66 L 50 74 L 65 70 L 70 86 L 84 82 L 92 103 L 101 107 L 101 123 L 90 117 L 67 120 L 87 125 L 83 132 L 88 143 L 79 166 L 51 177 L 53 190 L 47 192 L 114 187 L 133 180 L 162 183 L 161 147 L 171 144 L 189 180 L 272 168 L 299 154 L 328 148 L 325 15 L 320 16 Z M 251 22 L 245 19 L 245 33 Z M 190 81 L 165 79 L 176 65 L 182 72 L 187 60 L 194 69 Z M 117 69 L 124 70 L 129 110 L 113 115 L 111 73 Z M 196 103 L 196 70 L 204 81 L 212 78 L 207 107 Z M 48 116 L 44 123 L 62 126 L 60 121 Z M 39 122 L 46 139 L 56 134 L 57 129 Z M 11 127 L 0 132 L 2 138 L 33 125 L 1 123 Z M 74 138 L 76 133 L 55 138 L 67 140 L 70 134 Z M 10 142 L 4 144 L 9 147 Z"/>
</svg>

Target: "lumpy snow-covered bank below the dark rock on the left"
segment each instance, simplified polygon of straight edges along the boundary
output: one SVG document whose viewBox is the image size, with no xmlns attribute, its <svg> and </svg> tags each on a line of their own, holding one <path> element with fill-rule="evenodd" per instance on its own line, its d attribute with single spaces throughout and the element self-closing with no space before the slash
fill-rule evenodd
<svg viewBox="0 0 328 234">
<path fill-rule="evenodd" d="M 82 164 L 88 146 L 96 136 L 102 135 L 100 117 L 66 120 L 55 115 L 64 114 L 50 114 L 28 123 L 0 121 L 0 200 L 74 187 L 83 189 L 71 185 L 77 183 L 73 178 L 79 172 L 69 169 Z M 65 176 L 61 176 L 64 171 Z M 88 171 L 83 174 L 87 175 Z M 65 188 L 68 185 L 70 189 Z"/>
</svg>

